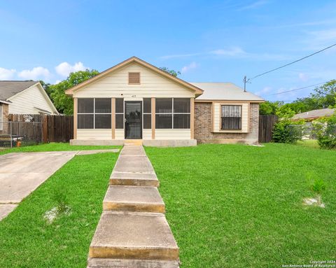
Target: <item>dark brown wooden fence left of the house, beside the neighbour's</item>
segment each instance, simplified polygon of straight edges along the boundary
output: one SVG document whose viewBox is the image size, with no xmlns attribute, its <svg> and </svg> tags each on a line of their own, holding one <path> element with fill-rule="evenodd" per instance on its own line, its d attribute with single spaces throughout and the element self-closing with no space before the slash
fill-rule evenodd
<svg viewBox="0 0 336 268">
<path fill-rule="evenodd" d="M 25 122 L 29 116 L 30 122 Z M 10 115 L 12 133 L 25 136 L 36 143 L 69 142 L 73 139 L 73 116 Z"/>
</svg>

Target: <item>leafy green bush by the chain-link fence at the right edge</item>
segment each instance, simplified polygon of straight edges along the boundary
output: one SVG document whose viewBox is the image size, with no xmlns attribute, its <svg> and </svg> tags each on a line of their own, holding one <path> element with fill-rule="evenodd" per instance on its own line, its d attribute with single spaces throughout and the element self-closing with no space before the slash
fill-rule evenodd
<svg viewBox="0 0 336 268">
<path fill-rule="evenodd" d="M 314 122 L 318 145 L 323 149 L 336 149 L 336 115 Z"/>
</svg>

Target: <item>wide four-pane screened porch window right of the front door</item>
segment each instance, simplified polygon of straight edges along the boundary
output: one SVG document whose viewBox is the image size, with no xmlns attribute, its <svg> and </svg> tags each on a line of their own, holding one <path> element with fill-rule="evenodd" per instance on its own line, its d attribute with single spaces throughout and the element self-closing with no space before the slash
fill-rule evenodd
<svg viewBox="0 0 336 268">
<path fill-rule="evenodd" d="M 155 128 L 190 129 L 190 99 L 156 99 Z"/>
</svg>

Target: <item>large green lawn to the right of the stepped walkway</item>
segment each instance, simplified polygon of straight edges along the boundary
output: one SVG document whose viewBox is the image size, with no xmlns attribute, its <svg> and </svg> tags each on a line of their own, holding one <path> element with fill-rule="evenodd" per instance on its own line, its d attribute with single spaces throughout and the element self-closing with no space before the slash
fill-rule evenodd
<svg viewBox="0 0 336 268">
<path fill-rule="evenodd" d="M 336 256 L 336 152 L 268 143 L 146 148 L 181 268 L 309 265 Z M 325 209 L 307 207 L 322 178 Z"/>
</svg>

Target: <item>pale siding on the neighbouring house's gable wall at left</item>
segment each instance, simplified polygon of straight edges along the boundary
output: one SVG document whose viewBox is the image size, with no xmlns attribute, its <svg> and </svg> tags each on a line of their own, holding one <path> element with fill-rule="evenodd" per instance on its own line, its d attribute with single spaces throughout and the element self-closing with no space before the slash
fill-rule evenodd
<svg viewBox="0 0 336 268">
<path fill-rule="evenodd" d="M 10 97 L 12 104 L 9 106 L 9 113 L 13 114 L 36 114 L 36 108 L 54 113 L 47 97 L 41 92 L 38 85 L 33 85 L 13 97 Z"/>
</svg>

